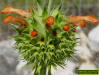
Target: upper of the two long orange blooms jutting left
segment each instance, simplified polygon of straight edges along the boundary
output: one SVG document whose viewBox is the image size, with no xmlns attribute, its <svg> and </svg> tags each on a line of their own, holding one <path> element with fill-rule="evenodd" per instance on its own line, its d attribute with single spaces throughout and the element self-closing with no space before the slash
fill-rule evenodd
<svg viewBox="0 0 99 75">
<path fill-rule="evenodd" d="M 29 14 L 26 11 L 24 11 L 22 9 L 13 8 L 11 6 L 7 6 L 7 7 L 3 8 L 0 13 L 1 14 L 17 13 L 24 17 L 29 17 Z"/>
</svg>

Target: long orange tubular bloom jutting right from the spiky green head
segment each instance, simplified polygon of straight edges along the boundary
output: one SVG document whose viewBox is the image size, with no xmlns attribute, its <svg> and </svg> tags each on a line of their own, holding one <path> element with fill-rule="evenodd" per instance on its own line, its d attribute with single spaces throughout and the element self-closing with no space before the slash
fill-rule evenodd
<svg viewBox="0 0 99 75">
<path fill-rule="evenodd" d="M 69 19 L 69 24 L 72 25 L 80 25 L 82 27 L 86 27 L 86 22 L 92 24 L 98 24 L 99 20 L 96 19 L 93 15 L 88 16 L 71 16 Z"/>
</svg>

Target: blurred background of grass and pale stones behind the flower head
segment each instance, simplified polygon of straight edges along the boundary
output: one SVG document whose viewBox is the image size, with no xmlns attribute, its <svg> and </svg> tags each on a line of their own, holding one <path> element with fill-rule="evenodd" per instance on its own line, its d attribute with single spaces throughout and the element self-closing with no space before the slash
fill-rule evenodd
<svg viewBox="0 0 99 75">
<path fill-rule="evenodd" d="M 56 8 L 61 0 L 53 0 L 52 8 Z M 63 0 L 65 15 L 93 14 L 99 19 L 99 0 Z M 39 0 L 43 5 L 48 0 Z M 0 0 L 0 10 L 6 6 L 13 6 L 28 11 L 29 7 L 36 7 L 36 0 Z M 18 52 L 13 49 L 15 41 L 10 36 L 15 34 L 10 24 L 3 24 L 6 15 L 0 14 L 0 75 L 33 75 L 29 66 L 22 68 L 25 61 L 19 59 Z M 88 24 L 86 28 L 79 28 L 79 46 L 74 58 L 68 61 L 66 68 L 53 70 L 53 75 L 76 75 L 77 69 L 99 69 L 99 25 Z"/>
</svg>

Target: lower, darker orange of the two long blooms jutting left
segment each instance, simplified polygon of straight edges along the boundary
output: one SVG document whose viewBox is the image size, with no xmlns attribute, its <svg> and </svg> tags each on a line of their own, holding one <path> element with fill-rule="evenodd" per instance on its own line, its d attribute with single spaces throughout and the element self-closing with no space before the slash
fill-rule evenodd
<svg viewBox="0 0 99 75">
<path fill-rule="evenodd" d="M 20 23 L 20 26 L 25 26 L 27 27 L 27 22 L 23 19 L 23 18 L 20 18 L 20 17 L 14 17 L 14 16 L 6 16 L 4 21 L 4 23 L 11 23 L 11 22 L 18 22 Z"/>
</svg>

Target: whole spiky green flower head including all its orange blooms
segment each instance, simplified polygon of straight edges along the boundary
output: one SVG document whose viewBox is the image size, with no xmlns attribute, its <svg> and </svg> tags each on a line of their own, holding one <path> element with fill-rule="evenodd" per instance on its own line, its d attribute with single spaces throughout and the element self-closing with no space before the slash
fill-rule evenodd
<svg viewBox="0 0 99 75">
<path fill-rule="evenodd" d="M 49 0 L 50 2 L 51 0 Z M 14 36 L 15 48 L 19 51 L 27 64 L 32 64 L 34 75 L 46 75 L 48 69 L 51 75 L 51 67 L 64 67 L 65 60 L 70 59 L 75 53 L 74 47 L 78 43 L 75 34 L 77 27 L 86 27 L 87 23 L 98 24 L 99 20 L 93 15 L 65 16 L 61 6 L 51 10 L 45 5 L 42 9 L 38 3 L 29 8 L 29 12 L 7 6 L 1 10 L 1 14 L 16 13 L 22 17 L 8 15 L 4 23 L 16 22 L 13 27 L 18 34 Z"/>
</svg>

